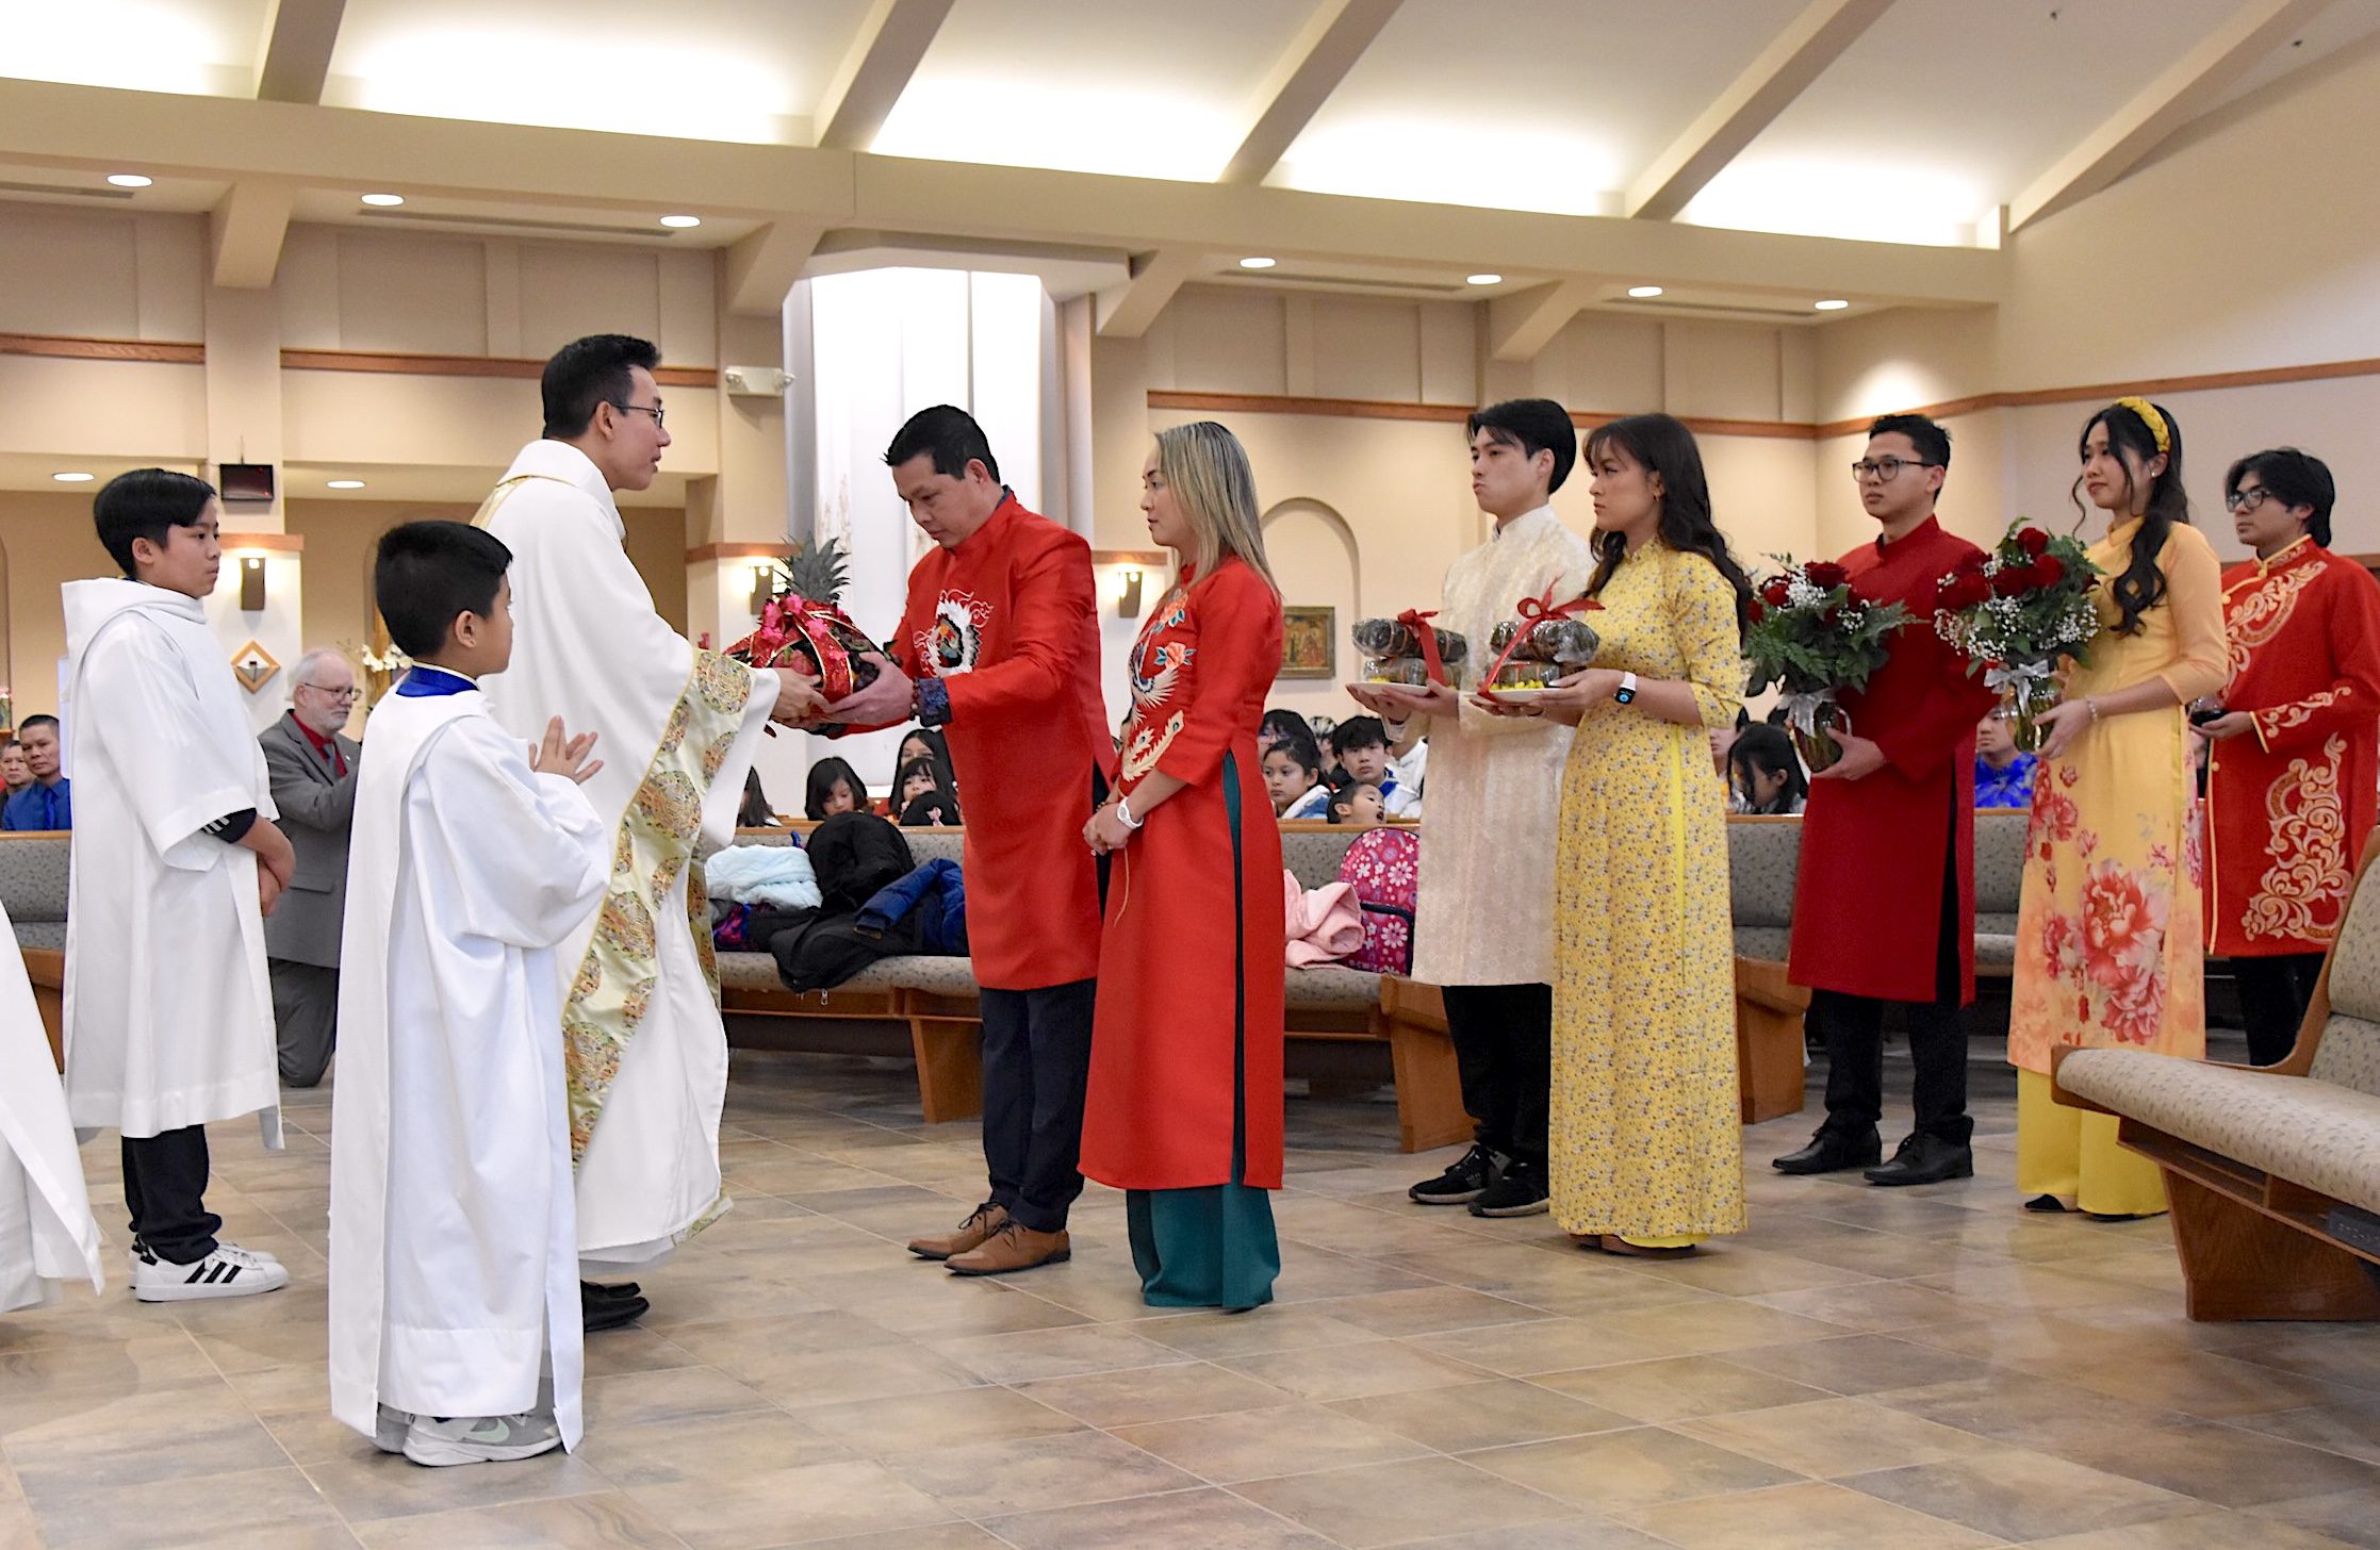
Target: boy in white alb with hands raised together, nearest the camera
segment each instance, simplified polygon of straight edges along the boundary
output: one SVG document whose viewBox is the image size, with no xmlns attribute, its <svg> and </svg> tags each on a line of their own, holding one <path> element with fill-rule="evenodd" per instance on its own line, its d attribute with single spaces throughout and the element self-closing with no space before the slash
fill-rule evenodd
<svg viewBox="0 0 2380 1550">
<path fill-rule="evenodd" d="M 512 555 L 459 521 L 381 536 L 416 667 L 371 712 L 331 1090 L 331 1412 L 416 1464 L 578 1445 L 581 1317 L 555 945 L 602 898 L 593 736 L 536 760 L 478 681 L 512 655 Z M 552 1407 L 538 1374 L 552 1371 Z"/>
</svg>

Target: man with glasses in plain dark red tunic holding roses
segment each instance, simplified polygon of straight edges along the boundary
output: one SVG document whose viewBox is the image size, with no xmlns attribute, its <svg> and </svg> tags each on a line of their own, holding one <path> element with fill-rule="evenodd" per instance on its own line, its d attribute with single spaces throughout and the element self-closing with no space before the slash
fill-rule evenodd
<svg viewBox="0 0 2380 1550">
<path fill-rule="evenodd" d="M 1975 1171 L 1966 1114 L 1966 1002 L 1975 998 L 1975 721 L 1992 690 L 1933 629 L 1935 583 L 1978 555 L 1935 521 L 1949 433 L 1885 414 L 1852 476 L 1883 533 L 1842 557 L 1852 593 L 1909 607 L 1866 690 L 1844 693 L 1852 736 L 1802 812 L 1792 983 L 1811 988 L 1825 1040 L 1825 1124 L 1787 1174 L 1864 1167 L 1871 1183 Z M 1883 1157 L 1885 1005 L 1899 1002 L 1916 1064 L 1916 1131 Z"/>
</svg>

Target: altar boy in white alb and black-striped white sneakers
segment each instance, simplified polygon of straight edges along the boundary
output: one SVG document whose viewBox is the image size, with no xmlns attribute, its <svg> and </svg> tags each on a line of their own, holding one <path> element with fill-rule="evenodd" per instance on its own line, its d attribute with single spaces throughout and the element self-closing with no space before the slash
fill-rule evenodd
<svg viewBox="0 0 2380 1550">
<path fill-rule="evenodd" d="M 288 1286 L 221 1243 L 207 1121 L 257 1114 L 281 1145 L 264 914 L 295 855 L 240 681 L 207 629 L 224 550 L 214 488 L 133 469 L 93 500 L 119 581 L 69 581 L 67 1112 L 124 1133 L 133 1295 L 240 1298 Z"/>
</svg>

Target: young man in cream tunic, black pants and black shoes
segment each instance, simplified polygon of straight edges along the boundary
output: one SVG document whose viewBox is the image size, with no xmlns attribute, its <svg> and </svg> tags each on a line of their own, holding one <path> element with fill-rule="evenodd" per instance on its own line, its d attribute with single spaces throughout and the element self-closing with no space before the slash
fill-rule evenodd
<svg viewBox="0 0 2380 1550">
<path fill-rule="evenodd" d="M 1414 898 L 1414 979 L 1442 986 L 1476 1145 L 1421 1205 L 1526 1217 L 1547 1202 L 1547 1110 L 1554 1060 L 1554 838 L 1571 729 L 1495 717 L 1464 702 L 1495 652 L 1488 636 L 1521 598 L 1568 602 L 1587 590 L 1595 552 L 1554 514 L 1552 493 L 1578 462 L 1568 412 L 1545 398 L 1471 417 L 1471 493 L 1495 531 L 1447 567 L 1435 626 L 1464 636 L 1454 688 L 1428 695 L 1357 686 L 1388 719 L 1430 717 L 1430 821 Z"/>
</svg>

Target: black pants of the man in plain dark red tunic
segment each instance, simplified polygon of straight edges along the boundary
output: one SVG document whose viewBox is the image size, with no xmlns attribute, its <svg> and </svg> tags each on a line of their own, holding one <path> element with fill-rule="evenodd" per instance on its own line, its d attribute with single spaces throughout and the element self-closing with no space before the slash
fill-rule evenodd
<svg viewBox="0 0 2380 1550">
<path fill-rule="evenodd" d="M 1952 840 L 1956 845 L 1956 838 Z M 1959 1005 L 1959 871 L 1944 855 L 1942 931 L 1935 938 L 1935 998 L 1902 1002 L 1916 1067 L 1916 1133 L 1966 1145 L 1966 1010 Z M 1814 990 L 1809 1019 L 1825 1040 L 1825 1129 L 1866 1136 L 1885 1117 L 1885 1002 Z"/>
</svg>

